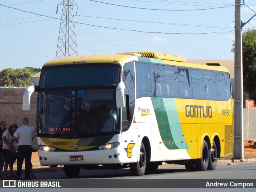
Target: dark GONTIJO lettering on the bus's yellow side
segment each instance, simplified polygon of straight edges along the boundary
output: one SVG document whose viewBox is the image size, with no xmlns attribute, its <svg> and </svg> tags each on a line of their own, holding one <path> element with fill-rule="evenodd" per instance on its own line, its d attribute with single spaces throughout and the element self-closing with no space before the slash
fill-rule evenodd
<svg viewBox="0 0 256 192">
<path fill-rule="evenodd" d="M 186 105 L 186 117 L 212 118 L 212 106 Z"/>
</svg>

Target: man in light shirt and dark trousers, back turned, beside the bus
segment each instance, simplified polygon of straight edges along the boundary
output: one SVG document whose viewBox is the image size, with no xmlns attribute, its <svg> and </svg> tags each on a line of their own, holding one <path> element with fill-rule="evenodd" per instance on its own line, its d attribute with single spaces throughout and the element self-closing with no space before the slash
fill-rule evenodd
<svg viewBox="0 0 256 192">
<path fill-rule="evenodd" d="M 28 126 L 28 118 L 23 119 L 23 126 L 18 128 L 14 133 L 14 140 L 19 143 L 17 158 L 17 176 L 20 179 L 22 164 L 25 159 L 25 179 L 30 178 L 30 166 L 32 156 L 32 137 L 36 132 L 36 127 Z"/>
</svg>

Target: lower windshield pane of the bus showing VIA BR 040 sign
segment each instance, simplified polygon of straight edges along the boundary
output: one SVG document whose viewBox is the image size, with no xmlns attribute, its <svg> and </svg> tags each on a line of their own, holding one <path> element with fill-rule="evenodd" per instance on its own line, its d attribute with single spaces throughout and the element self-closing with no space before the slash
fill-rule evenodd
<svg viewBox="0 0 256 192">
<path fill-rule="evenodd" d="M 50 134 L 89 137 L 119 132 L 115 92 L 115 89 L 39 92 L 38 133 L 50 137 Z"/>
</svg>

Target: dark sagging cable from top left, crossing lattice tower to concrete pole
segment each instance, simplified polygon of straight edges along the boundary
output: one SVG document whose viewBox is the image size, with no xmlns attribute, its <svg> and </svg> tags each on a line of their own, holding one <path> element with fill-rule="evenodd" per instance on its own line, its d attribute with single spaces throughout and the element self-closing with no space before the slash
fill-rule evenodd
<svg viewBox="0 0 256 192">
<path fill-rule="evenodd" d="M 34 12 L 30 12 L 30 11 L 25 11 L 25 10 L 20 10 L 18 8 L 14 8 L 14 7 L 9 7 L 9 6 L 5 6 L 3 4 L 0 4 L 6 8 L 12 8 L 12 9 L 15 9 L 15 10 L 19 10 L 21 12 L 26 12 L 26 13 L 32 13 L 32 14 L 35 14 L 35 15 L 38 15 L 38 16 L 44 16 L 44 17 L 48 17 L 48 18 L 52 18 L 52 19 L 57 19 L 57 20 L 61 20 L 60 18 L 54 18 L 54 17 L 51 17 L 51 16 L 47 16 L 47 15 L 42 15 L 42 14 L 37 14 L 37 13 L 34 13 Z M 66 20 L 68 21 L 68 20 Z M 228 32 L 205 32 L 205 33 L 168 33 L 168 32 L 148 32 L 148 31 L 141 31 L 141 30 L 132 30 L 132 29 L 122 29 L 122 28 L 113 28 L 113 27 L 106 27 L 106 26 L 98 26 L 98 25 L 92 25 L 92 24 L 87 24 L 87 23 L 81 23 L 81 22 L 74 22 L 74 23 L 77 23 L 77 24 L 83 24 L 83 25 L 88 25 L 88 26 L 94 26 L 94 27 L 100 27 L 100 28 L 107 28 L 107 29 L 115 29 L 115 30 L 123 30 L 123 31 L 133 31 L 133 32 L 142 32 L 142 33 L 152 33 L 152 34 L 183 34 L 183 35 L 202 35 L 202 34 L 227 34 L 227 33 L 230 33 L 232 31 L 228 31 Z"/>
</svg>

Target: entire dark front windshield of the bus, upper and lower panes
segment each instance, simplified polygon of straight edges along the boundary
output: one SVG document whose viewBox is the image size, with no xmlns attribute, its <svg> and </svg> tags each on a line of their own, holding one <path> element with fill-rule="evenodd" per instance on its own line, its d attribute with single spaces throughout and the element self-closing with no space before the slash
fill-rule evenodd
<svg viewBox="0 0 256 192">
<path fill-rule="evenodd" d="M 42 68 L 38 134 L 91 137 L 120 132 L 116 85 L 120 66 L 76 64 Z"/>
</svg>

